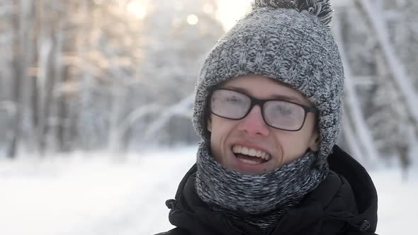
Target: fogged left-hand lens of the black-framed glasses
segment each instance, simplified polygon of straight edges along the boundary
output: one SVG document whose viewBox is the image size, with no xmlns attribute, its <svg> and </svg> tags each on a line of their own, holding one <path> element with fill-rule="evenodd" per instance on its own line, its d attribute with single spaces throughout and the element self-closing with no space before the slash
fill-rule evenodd
<svg viewBox="0 0 418 235">
<path fill-rule="evenodd" d="M 250 105 L 250 98 L 236 91 L 215 90 L 210 98 L 210 110 L 212 113 L 232 119 L 244 117 Z"/>
</svg>

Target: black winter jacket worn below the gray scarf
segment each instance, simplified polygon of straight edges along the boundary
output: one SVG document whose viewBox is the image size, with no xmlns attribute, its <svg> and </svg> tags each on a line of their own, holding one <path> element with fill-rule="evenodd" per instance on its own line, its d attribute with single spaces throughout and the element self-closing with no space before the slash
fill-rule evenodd
<svg viewBox="0 0 418 235">
<path fill-rule="evenodd" d="M 378 197 L 366 169 L 337 145 L 328 162 L 329 176 L 283 214 L 270 234 L 374 234 Z M 167 200 L 176 229 L 159 235 L 261 234 L 257 227 L 210 210 L 196 194 L 195 176 L 196 165 L 181 180 L 176 200 Z"/>
</svg>

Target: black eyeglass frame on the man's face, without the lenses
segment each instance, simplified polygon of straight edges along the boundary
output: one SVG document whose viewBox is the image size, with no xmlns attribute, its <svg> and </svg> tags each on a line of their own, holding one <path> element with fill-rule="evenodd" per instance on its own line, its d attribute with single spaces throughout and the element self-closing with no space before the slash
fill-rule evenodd
<svg viewBox="0 0 418 235">
<path fill-rule="evenodd" d="M 212 100 L 213 93 L 215 91 L 217 91 L 217 90 L 234 91 L 234 92 L 240 93 L 240 94 L 242 94 L 244 96 L 247 96 L 249 98 L 250 102 L 251 102 L 250 105 L 249 105 L 249 109 L 248 109 L 247 113 L 245 113 L 245 115 L 242 116 L 242 117 L 240 117 L 240 118 L 223 117 L 221 115 L 218 115 L 218 114 L 214 113 L 213 110 L 212 110 L 212 107 L 211 107 L 212 105 L 210 105 L 210 103 L 211 103 L 211 100 Z M 240 91 L 235 91 L 235 90 L 228 89 L 228 88 L 220 88 L 220 87 L 217 87 L 217 86 L 213 86 L 212 88 L 209 88 L 208 91 L 209 91 L 208 108 L 210 110 L 210 113 L 213 113 L 213 115 L 217 115 L 218 117 L 223 117 L 223 118 L 227 118 L 227 119 L 230 119 L 230 120 L 242 120 L 242 119 L 244 119 L 244 117 L 247 117 L 247 115 L 251 112 L 251 110 L 254 108 L 255 105 L 259 105 L 259 107 L 261 109 L 261 117 L 263 117 L 264 123 L 266 123 L 266 125 L 268 125 L 269 127 L 273 127 L 273 126 L 270 125 L 266 121 L 266 119 L 264 118 L 264 104 L 265 103 L 267 103 L 269 101 L 283 101 L 283 102 L 287 102 L 287 103 L 293 103 L 295 105 L 298 105 L 298 106 L 302 107 L 303 110 L 305 111 L 305 116 L 303 117 L 302 125 L 300 125 L 300 127 L 299 127 L 298 130 L 286 130 L 286 129 L 282 129 L 282 128 L 278 128 L 278 127 L 273 127 L 275 129 L 278 129 L 278 130 L 286 130 L 288 132 L 297 132 L 300 129 L 302 129 L 303 125 L 305 125 L 305 120 L 306 120 L 307 113 L 315 113 L 315 114 L 319 114 L 320 113 L 320 110 L 317 109 L 317 108 L 315 108 L 315 107 L 310 107 L 310 106 L 303 105 L 303 104 L 300 104 L 300 103 L 295 103 L 295 102 L 292 102 L 292 101 L 286 101 L 284 99 L 274 98 L 274 99 L 261 100 L 261 99 L 258 99 L 258 98 L 254 98 L 253 96 L 250 96 L 249 94 L 242 93 Z"/>
</svg>

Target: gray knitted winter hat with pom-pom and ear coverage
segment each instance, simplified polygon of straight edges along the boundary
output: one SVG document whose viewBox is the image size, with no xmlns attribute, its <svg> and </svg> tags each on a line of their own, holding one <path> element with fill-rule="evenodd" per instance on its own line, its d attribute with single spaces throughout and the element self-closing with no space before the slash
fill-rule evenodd
<svg viewBox="0 0 418 235">
<path fill-rule="evenodd" d="M 329 0 L 255 0 L 252 11 L 218 40 L 200 70 L 193 125 L 210 141 L 205 114 L 208 89 L 246 74 L 276 79 L 320 110 L 317 165 L 337 142 L 344 91 L 344 71 L 329 32 Z"/>
</svg>

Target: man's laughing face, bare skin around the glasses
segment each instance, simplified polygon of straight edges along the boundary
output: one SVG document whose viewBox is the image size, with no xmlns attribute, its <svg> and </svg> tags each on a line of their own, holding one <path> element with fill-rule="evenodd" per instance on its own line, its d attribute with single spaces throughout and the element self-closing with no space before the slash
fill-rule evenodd
<svg viewBox="0 0 418 235">
<path fill-rule="evenodd" d="M 298 91 L 264 76 L 239 76 L 220 87 L 262 100 L 283 96 L 288 97 L 288 101 L 312 106 Z M 208 131 L 211 132 L 210 149 L 215 159 L 230 170 L 249 175 L 273 171 L 300 158 L 309 148 L 317 151 L 319 142 L 315 114 L 307 113 L 305 124 L 298 131 L 278 130 L 264 122 L 259 105 L 255 105 L 240 120 L 230 120 L 211 113 Z M 249 155 L 255 153 L 262 158 L 240 154 L 246 151 L 252 151 Z"/>
</svg>

